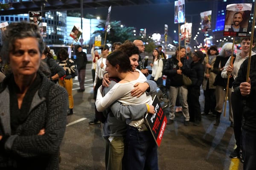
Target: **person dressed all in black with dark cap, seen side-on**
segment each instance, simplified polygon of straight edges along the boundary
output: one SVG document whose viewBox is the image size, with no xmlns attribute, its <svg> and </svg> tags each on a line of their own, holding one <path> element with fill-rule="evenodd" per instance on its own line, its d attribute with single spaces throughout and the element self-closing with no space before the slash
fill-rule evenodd
<svg viewBox="0 0 256 170">
<path fill-rule="evenodd" d="M 190 121 L 194 122 L 195 126 L 200 125 L 201 122 L 201 107 L 199 103 L 200 86 L 204 79 L 204 65 L 202 61 L 204 53 L 196 51 L 192 54 L 192 63 L 190 64 L 191 71 L 189 78 L 192 85 L 188 88 L 188 105 Z"/>
</svg>

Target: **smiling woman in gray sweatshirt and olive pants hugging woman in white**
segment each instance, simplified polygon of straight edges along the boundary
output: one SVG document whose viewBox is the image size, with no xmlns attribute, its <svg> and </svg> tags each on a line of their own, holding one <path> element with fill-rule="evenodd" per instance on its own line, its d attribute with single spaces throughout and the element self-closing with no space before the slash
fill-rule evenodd
<svg viewBox="0 0 256 170">
<path fill-rule="evenodd" d="M 125 52 L 130 61 L 131 65 L 137 63 L 134 61 L 134 55 L 139 54 L 138 48 L 133 44 L 124 44 L 120 46 L 120 50 Z M 138 64 L 137 64 L 138 65 Z M 135 66 L 134 68 L 136 68 Z M 111 74 L 110 76 L 115 76 Z M 119 81 L 115 77 L 110 78 L 110 83 L 108 87 L 102 88 L 102 95 L 101 93 L 97 94 L 97 98 L 99 95 L 101 97 L 105 96 L 108 91 L 113 88 L 113 86 Z M 138 83 L 137 88 L 139 88 L 142 93 L 146 91 L 146 93 L 154 93 L 157 89 L 157 84 L 154 81 L 147 80 L 144 83 Z M 134 88 L 131 91 L 131 95 L 139 96 L 140 93 L 137 93 L 137 88 Z M 151 107 L 151 106 L 150 106 Z M 122 170 L 122 158 L 124 155 L 124 142 L 125 136 L 127 132 L 127 124 L 126 119 L 136 120 L 142 119 L 147 112 L 147 105 L 122 105 L 121 102 L 115 101 L 111 107 L 105 109 L 103 111 L 103 115 L 105 116 L 106 120 L 103 125 L 103 136 L 106 139 L 106 148 L 105 148 L 105 165 L 106 170 Z"/>
</svg>

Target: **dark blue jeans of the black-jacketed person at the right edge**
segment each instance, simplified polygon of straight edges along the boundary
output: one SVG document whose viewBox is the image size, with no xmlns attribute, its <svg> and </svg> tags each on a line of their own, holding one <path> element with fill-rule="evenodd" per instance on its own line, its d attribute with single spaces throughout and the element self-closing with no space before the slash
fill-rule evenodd
<svg viewBox="0 0 256 170">
<path fill-rule="evenodd" d="M 255 170 L 256 167 L 256 132 L 242 130 L 244 170 Z"/>
</svg>

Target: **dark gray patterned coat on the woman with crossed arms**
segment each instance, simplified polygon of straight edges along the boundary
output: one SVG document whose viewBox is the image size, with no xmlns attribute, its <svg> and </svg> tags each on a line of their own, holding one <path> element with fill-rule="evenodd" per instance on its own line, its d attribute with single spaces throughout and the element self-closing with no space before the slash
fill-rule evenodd
<svg viewBox="0 0 256 170">
<path fill-rule="evenodd" d="M 68 96 L 64 88 L 41 72 L 41 87 L 33 96 L 26 119 L 12 134 L 8 77 L 0 83 L 0 169 L 58 170 L 58 152 L 64 136 Z M 45 134 L 39 136 L 44 128 Z M 4 168 L 5 167 L 5 168 Z"/>
</svg>

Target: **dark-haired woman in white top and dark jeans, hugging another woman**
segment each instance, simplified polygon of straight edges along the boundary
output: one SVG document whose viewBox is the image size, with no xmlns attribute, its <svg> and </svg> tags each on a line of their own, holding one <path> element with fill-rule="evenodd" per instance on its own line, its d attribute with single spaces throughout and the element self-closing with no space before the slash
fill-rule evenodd
<svg viewBox="0 0 256 170">
<path fill-rule="evenodd" d="M 134 55 L 133 59 L 137 62 L 139 55 Z M 121 79 L 113 88 L 101 98 L 99 94 L 102 89 L 99 88 L 96 99 L 96 108 L 98 111 L 105 110 L 114 101 L 119 101 L 123 105 L 140 105 L 147 106 L 147 113 L 154 113 L 151 110 L 152 98 L 150 95 L 143 93 L 140 97 L 131 96 L 131 91 L 137 82 L 145 82 L 145 76 L 139 71 L 133 71 L 131 62 L 127 54 L 122 51 L 114 51 L 107 57 L 106 71 L 110 77 L 119 77 Z M 99 96 L 99 97 L 98 97 Z M 125 145 L 125 169 L 158 169 L 157 164 L 157 145 L 145 124 L 145 119 L 132 121 L 126 120 L 128 131 Z M 131 136 L 134 136 L 131 138 Z M 135 137 L 136 136 L 136 137 Z"/>
</svg>

